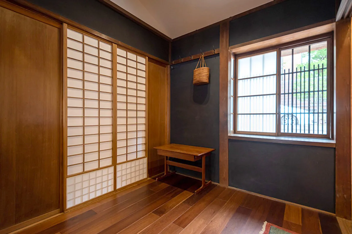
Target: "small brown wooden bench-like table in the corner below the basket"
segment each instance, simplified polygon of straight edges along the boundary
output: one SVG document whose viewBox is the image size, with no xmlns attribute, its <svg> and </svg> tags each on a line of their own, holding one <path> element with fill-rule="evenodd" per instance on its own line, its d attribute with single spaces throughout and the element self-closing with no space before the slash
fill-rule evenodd
<svg viewBox="0 0 352 234">
<path fill-rule="evenodd" d="M 165 173 L 164 175 L 158 177 L 156 181 L 175 174 L 175 172 L 169 172 L 168 165 L 171 165 L 171 166 L 182 167 L 185 169 L 202 173 L 202 186 L 199 189 L 195 190 L 194 192 L 195 194 L 199 193 L 201 190 L 206 188 L 212 182 L 212 181 L 208 181 L 207 183 L 205 182 L 205 158 L 206 156 L 209 156 L 210 153 L 215 149 L 197 147 L 197 146 L 178 145 L 178 144 L 169 144 L 169 145 L 163 145 L 163 146 L 158 146 L 154 148 L 157 150 L 158 155 L 165 156 Z M 180 162 L 170 161 L 168 160 L 168 157 L 183 159 L 183 160 L 192 161 L 192 162 L 202 159 L 202 167 L 196 167 L 196 166 L 192 166 L 192 165 L 188 165 Z"/>
</svg>

